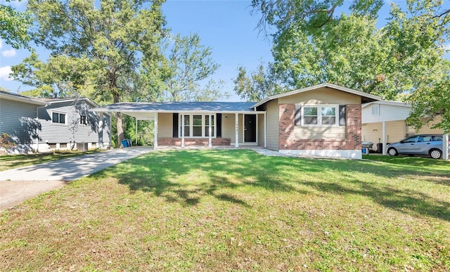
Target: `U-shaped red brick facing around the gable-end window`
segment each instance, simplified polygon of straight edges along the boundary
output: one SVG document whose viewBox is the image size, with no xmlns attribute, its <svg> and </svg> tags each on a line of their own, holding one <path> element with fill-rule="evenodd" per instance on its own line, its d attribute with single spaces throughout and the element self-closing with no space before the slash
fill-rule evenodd
<svg viewBox="0 0 450 272">
<path fill-rule="evenodd" d="M 361 105 L 347 105 L 346 138 L 295 139 L 295 105 L 279 105 L 279 150 L 361 150 Z"/>
</svg>

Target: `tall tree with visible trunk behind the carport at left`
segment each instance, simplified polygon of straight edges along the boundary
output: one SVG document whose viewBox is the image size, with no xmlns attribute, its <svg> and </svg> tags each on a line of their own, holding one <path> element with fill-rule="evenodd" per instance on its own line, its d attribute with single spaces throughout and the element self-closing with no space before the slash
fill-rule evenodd
<svg viewBox="0 0 450 272">
<path fill-rule="evenodd" d="M 36 44 L 53 56 L 67 56 L 84 63 L 94 89 L 118 103 L 134 90 L 141 60 L 158 56 L 158 43 L 165 36 L 162 1 L 145 0 L 30 0 L 28 10 L 36 27 Z M 81 66 L 81 65 L 80 65 Z M 117 119 L 117 141 L 123 139 L 122 116 Z"/>
</svg>

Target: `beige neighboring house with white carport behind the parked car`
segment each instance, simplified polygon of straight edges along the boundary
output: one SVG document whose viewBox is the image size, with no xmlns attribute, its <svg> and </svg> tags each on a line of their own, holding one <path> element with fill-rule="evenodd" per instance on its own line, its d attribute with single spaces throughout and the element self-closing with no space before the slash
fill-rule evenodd
<svg viewBox="0 0 450 272">
<path fill-rule="evenodd" d="M 440 117 L 420 129 L 406 125 L 411 105 L 399 101 L 373 101 L 362 106 L 362 135 L 364 142 L 372 142 L 373 150 L 386 154 L 388 143 L 400 141 L 413 134 L 442 134 L 442 129 L 431 129 L 441 121 Z M 377 143 L 380 143 L 377 146 Z M 383 150 L 378 150 L 378 147 Z"/>
</svg>

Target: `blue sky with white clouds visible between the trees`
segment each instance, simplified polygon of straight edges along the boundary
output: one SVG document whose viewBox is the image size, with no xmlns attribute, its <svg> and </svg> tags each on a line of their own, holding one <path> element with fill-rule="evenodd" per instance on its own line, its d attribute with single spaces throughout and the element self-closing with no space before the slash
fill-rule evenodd
<svg viewBox="0 0 450 272">
<path fill-rule="evenodd" d="M 4 3 L 4 0 L 0 0 Z M 163 12 L 167 20 L 167 27 L 172 34 L 188 35 L 197 33 L 202 44 L 212 48 L 212 58 L 220 65 L 214 74 L 216 80 L 224 80 L 224 91 L 233 92 L 233 79 L 236 78 L 238 67 L 244 66 L 248 70 L 255 70 L 259 63 L 268 63 L 271 56 L 271 42 L 264 39 L 255 29 L 259 16 L 250 15 L 251 1 L 244 0 L 168 0 L 163 4 Z M 379 24 L 387 18 L 389 3 L 383 7 Z M 405 1 L 395 1 L 404 4 Z M 13 1 L 12 5 L 18 10 L 24 10 L 26 1 Z M 37 48 L 42 59 L 48 54 L 44 49 Z M 15 51 L 3 41 L 0 46 L 0 86 L 11 91 L 26 91 L 31 89 L 20 82 L 8 79 L 8 71 L 12 65 L 18 65 L 23 58 L 30 55 L 27 50 Z M 233 95 L 230 101 L 238 101 Z"/>
</svg>

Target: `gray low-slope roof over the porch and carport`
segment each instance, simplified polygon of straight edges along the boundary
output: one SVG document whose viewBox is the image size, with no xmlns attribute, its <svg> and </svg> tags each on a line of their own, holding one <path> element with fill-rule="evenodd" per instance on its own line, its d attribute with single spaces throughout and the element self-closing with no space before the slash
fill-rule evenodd
<svg viewBox="0 0 450 272">
<path fill-rule="evenodd" d="M 250 112 L 255 102 L 152 102 L 115 103 L 98 112 Z"/>
</svg>

